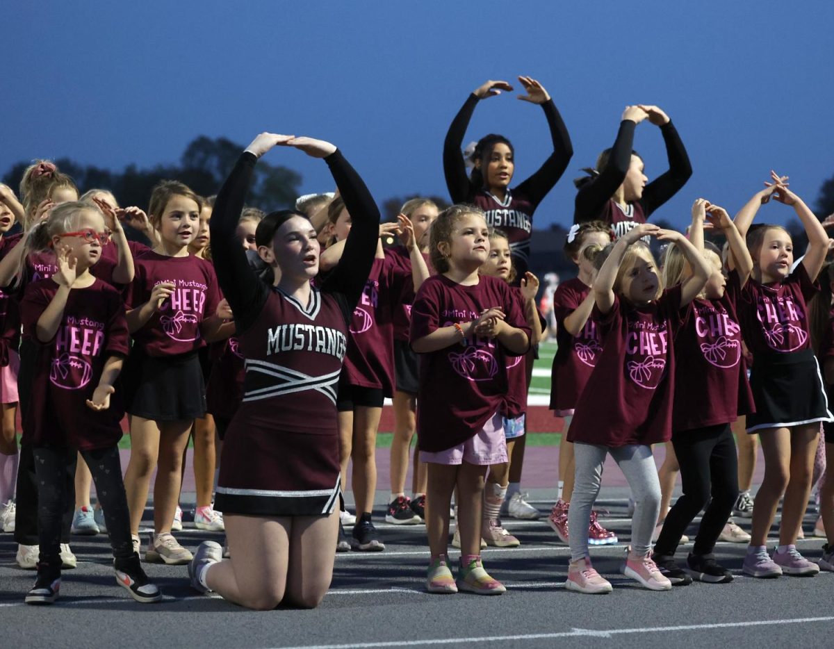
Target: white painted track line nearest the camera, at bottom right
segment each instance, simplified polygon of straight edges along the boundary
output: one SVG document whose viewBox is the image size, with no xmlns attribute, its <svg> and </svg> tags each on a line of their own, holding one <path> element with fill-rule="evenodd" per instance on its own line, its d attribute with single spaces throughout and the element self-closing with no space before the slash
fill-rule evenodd
<svg viewBox="0 0 834 649">
<path fill-rule="evenodd" d="M 634 633 L 663 633 L 669 631 L 709 631 L 711 629 L 734 629 L 750 626 L 774 626 L 780 624 L 811 624 L 812 622 L 834 621 L 834 616 L 825 617 L 797 617 L 788 620 L 753 620 L 736 622 L 716 622 L 713 624 L 686 624 L 680 626 L 645 626 L 636 629 L 578 629 L 570 631 L 558 631 L 555 633 L 528 633 L 517 636 L 482 636 L 482 637 L 458 637 L 458 638 L 432 638 L 427 640 L 397 640 L 388 642 L 356 642 L 342 645 L 295 645 L 276 647 L 276 649 L 371 649 L 372 647 L 384 646 L 424 646 L 424 645 L 452 645 L 452 644 L 473 644 L 475 642 L 501 642 L 501 641 L 525 641 L 525 640 L 550 640 L 561 637 L 600 637 L 610 638 Z"/>
</svg>

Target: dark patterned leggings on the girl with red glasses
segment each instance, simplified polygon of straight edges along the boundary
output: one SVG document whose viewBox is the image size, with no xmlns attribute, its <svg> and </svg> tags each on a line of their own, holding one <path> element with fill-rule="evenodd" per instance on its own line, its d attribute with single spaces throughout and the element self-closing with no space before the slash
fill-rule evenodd
<svg viewBox="0 0 834 649">
<path fill-rule="evenodd" d="M 41 546 L 38 559 L 43 566 L 54 569 L 54 566 L 61 566 L 62 519 L 67 501 L 73 500 L 78 451 L 66 446 L 34 446 L 33 451 L 38 475 L 38 542 Z M 81 456 L 93 474 L 113 556 L 128 559 L 133 556 L 133 542 L 118 447 L 82 450 Z"/>
</svg>

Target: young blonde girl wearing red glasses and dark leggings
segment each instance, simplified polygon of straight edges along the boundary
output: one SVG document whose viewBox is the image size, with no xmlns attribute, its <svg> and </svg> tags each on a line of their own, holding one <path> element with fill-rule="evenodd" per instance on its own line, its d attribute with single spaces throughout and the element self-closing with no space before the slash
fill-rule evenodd
<svg viewBox="0 0 834 649">
<path fill-rule="evenodd" d="M 72 498 L 77 450 L 103 503 L 117 583 L 137 601 L 162 599 L 130 539 L 118 454 L 124 408 L 116 382 L 128 355 L 128 327 L 121 295 L 90 272 L 108 243 L 101 212 L 81 202 L 53 209 L 27 238 L 25 252 L 53 249 L 57 266 L 51 278 L 28 284 L 20 305 L 34 347 L 23 443 L 33 450 L 40 545 L 28 604 L 51 604 L 58 597 L 62 518 Z M 44 403 L 50 407 L 40 407 Z"/>
</svg>

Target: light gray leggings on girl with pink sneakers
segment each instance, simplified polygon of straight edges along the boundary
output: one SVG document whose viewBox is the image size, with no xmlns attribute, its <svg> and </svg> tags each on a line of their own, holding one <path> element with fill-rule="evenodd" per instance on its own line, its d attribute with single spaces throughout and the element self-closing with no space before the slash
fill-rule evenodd
<svg viewBox="0 0 834 649">
<path fill-rule="evenodd" d="M 575 442 L 576 475 L 573 497 L 568 510 L 568 540 L 570 561 L 579 561 L 588 554 L 588 526 L 590 511 L 600 494 L 602 465 L 605 455 L 611 454 L 625 475 L 635 500 L 631 519 L 631 550 L 646 555 L 651 550 L 651 533 L 661 511 L 661 483 L 651 456 L 651 446 L 631 445 L 610 448 Z"/>
</svg>

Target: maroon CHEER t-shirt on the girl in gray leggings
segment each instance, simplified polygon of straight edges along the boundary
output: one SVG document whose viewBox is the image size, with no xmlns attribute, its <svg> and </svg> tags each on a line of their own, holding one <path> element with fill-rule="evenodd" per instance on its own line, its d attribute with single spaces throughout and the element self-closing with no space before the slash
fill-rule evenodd
<svg viewBox="0 0 834 649">
<path fill-rule="evenodd" d="M 569 441 L 617 447 L 671 439 L 680 309 L 680 285 L 644 306 L 617 298 L 605 316 L 594 307 L 602 353 L 576 404 Z"/>
</svg>

